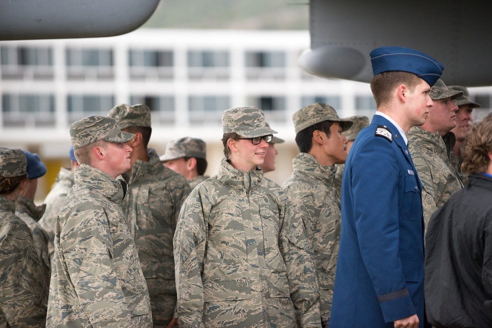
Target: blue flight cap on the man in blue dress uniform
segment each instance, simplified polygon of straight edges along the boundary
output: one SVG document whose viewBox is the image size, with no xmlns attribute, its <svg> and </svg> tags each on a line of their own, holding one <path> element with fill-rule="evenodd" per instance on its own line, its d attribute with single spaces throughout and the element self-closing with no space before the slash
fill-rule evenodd
<svg viewBox="0 0 492 328">
<path fill-rule="evenodd" d="M 380 47 L 370 52 L 372 73 L 403 71 L 417 75 L 431 87 L 441 77 L 444 66 L 432 57 L 409 48 Z"/>
</svg>

